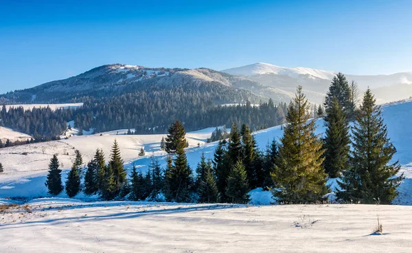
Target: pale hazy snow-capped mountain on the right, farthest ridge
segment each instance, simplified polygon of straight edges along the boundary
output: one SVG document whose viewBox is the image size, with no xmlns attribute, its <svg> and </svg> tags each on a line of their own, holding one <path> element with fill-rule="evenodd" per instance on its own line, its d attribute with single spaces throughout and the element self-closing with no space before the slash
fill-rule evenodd
<svg viewBox="0 0 412 253">
<path fill-rule="evenodd" d="M 242 76 L 288 94 L 293 94 L 297 85 L 301 85 L 308 99 L 318 104 L 323 101 L 330 81 L 337 73 L 306 67 L 279 67 L 268 63 L 234 67 L 222 72 Z M 412 72 L 376 76 L 345 74 L 345 76 L 350 81 L 354 80 L 361 91 L 370 87 L 380 103 L 412 96 Z"/>
</svg>

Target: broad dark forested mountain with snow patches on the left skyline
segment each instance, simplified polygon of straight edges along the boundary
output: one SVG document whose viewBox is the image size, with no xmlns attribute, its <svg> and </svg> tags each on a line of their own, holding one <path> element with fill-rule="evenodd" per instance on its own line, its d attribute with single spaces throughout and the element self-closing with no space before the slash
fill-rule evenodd
<svg viewBox="0 0 412 253">
<path fill-rule="evenodd" d="M 226 98 L 216 102 L 259 102 L 267 100 L 251 91 L 239 89 L 242 86 L 258 85 L 252 80 L 216 72 L 211 69 L 150 68 L 137 65 L 103 65 L 83 74 L 64 80 L 56 80 L 30 89 L 16 90 L 0 95 L 5 103 L 51 103 L 82 102 L 84 97 L 102 98 L 119 96 L 142 89 L 173 90 L 189 87 L 202 92 L 204 86 L 211 86 Z"/>
</svg>

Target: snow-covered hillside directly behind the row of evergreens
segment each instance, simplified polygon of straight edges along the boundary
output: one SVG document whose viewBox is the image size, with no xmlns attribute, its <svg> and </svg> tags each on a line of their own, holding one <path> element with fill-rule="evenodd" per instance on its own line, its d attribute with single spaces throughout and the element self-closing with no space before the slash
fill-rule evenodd
<svg viewBox="0 0 412 253">
<path fill-rule="evenodd" d="M 399 159 L 402 171 L 407 179 L 400 186 L 400 196 L 396 203 L 412 204 L 412 100 L 405 100 L 383 107 L 383 117 L 387 123 L 389 137 L 395 144 L 398 153 L 394 159 Z M 317 121 L 317 133 L 322 134 L 323 120 Z M 214 128 L 187 133 L 190 147 L 187 148 L 187 160 L 192 168 L 196 168 L 202 153 L 212 158 L 217 143 L 205 143 Z M 150 156 L 158 157 L 161 165 L 165 166 L 166 153 L 160 151 L 161 137 L 164 135 L 124 135 L 126 130 L 111 131 L 96 135 L 82 135 L 53 142 L 42 142 L 23 146 L 14 146 L 0 149 L 0 162 L 5 172 L 0 175 L 0 197 L 45 197 L 47 188 L 44 185 L 47 175 L 47 164 L 54 153 L 58 153 L 63 164 L 63 181 L 74 159 L 74 150 L 79 149 L 84 155 L 84 162 L 88 162 L 94 155 L 96 148 L 102 148 L 106 157 L 110 154 L 111 145 L 116 139 L 119 142 L 122 157 L 126 168 L 130 172 L 132 164 L 146 171 L 150 164 Z M 282 136 L 281 126 L 255 132 L 258 146 L 263 150 L 273 138 Z M 198 144 L 200 144 L 198 146 Z M 146 156 L 139 157 L 141 147 L 146 150 Z M 61 193 L 60 197 L 65 197 Z M 79 195 L 78 197 L 84 197 Z"/>
</svg>

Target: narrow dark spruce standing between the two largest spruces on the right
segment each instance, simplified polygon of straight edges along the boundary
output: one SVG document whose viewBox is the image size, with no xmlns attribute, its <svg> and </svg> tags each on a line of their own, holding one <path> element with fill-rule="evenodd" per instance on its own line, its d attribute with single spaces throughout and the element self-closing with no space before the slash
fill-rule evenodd
<svg viewBox="0 0 412 253">
<path fill-rule="evenodd" d="M 326 110 L 325 126 L 323 167 L 330 178 L 335 178 L 348 168 L 350 151 L 349 124 L 337 98 L 332 100 L 332 106 Z"/>
</svg>

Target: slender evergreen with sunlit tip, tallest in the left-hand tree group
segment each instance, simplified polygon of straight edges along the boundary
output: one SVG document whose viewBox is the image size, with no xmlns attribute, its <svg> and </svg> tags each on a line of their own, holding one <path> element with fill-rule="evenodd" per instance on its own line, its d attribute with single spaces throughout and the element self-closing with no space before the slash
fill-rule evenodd
<svg viewBox="0 0 412 253">
<path fill-rule="evenodd" d="M 126 182 L 126 170 L 123 166 L 123 159 L 120 156 L 120 149 L 117 141 L 113 143 L 111 150 L 111 160 L 109 162 L 113 171 L 113 193 L 117 195 Z"/>
</svg>

